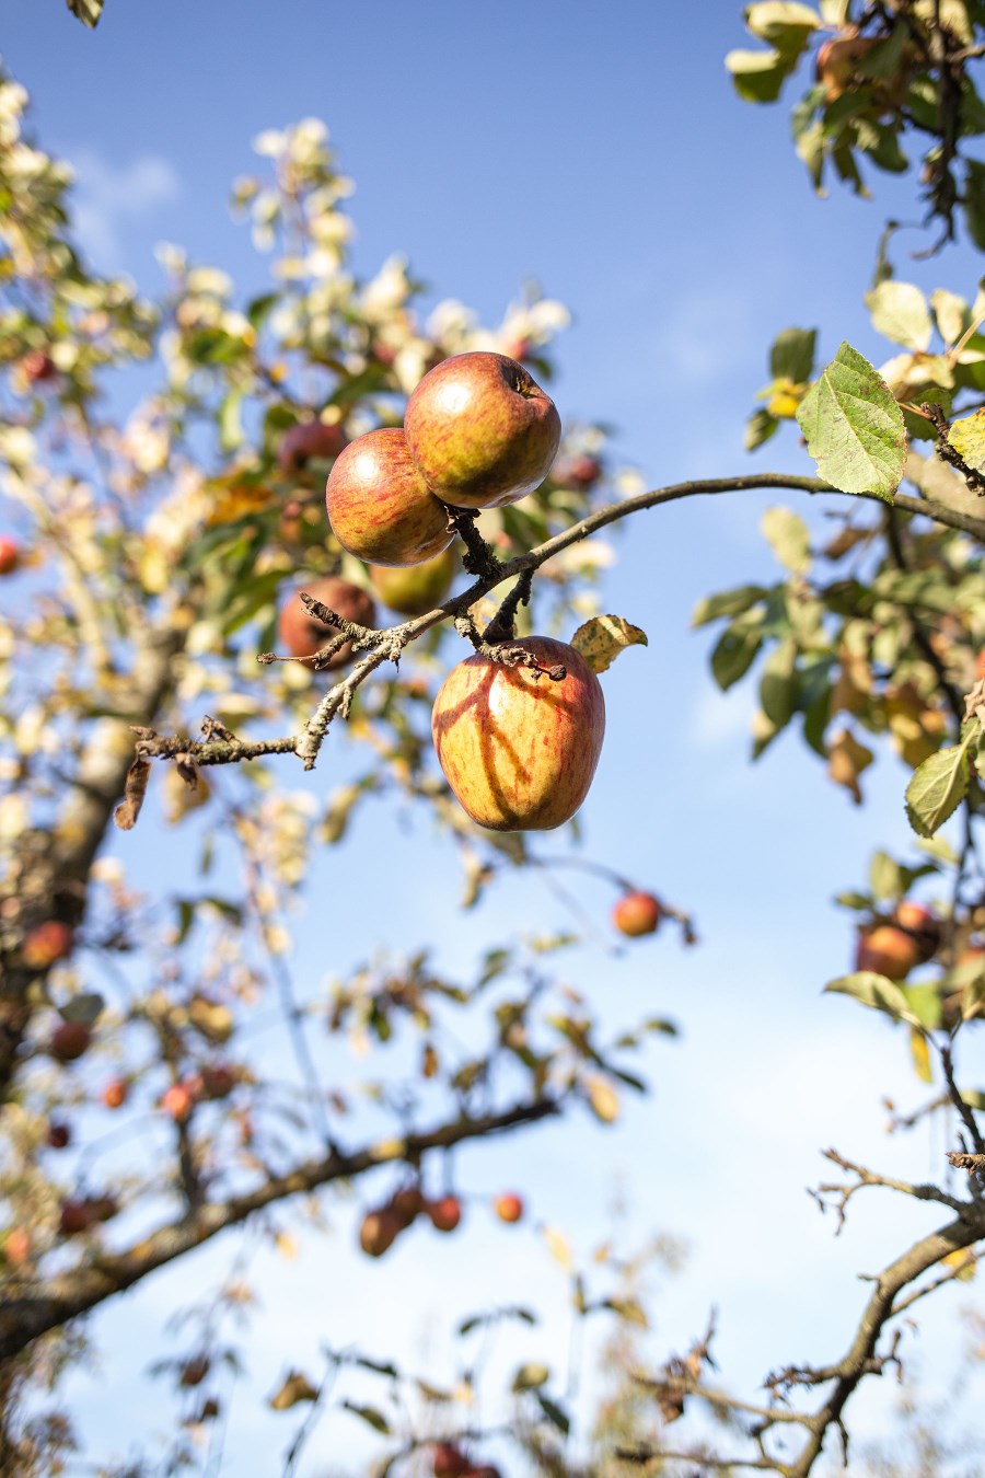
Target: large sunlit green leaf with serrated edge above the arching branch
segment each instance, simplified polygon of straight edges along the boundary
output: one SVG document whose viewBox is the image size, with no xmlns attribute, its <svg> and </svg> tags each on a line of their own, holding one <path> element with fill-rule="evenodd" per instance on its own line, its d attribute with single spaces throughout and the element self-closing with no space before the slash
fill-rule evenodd
<svg viewBox="0 0 985 1478">
<path fill-rule="evenodd" d="M 892 503 L 907 460 L 902 411 L 873 367 L 843 343 L 797 408 L 818 471 L 842 492 Z"/>
</svg>

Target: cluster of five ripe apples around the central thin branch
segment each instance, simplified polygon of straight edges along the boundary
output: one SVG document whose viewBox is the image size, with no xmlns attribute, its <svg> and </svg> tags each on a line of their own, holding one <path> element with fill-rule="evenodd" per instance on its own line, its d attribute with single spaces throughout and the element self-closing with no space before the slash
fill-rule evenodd
<svg viewBox="0 0 985 1478">
<path fill-rule="evenodd" d="M 332 532 L 369 565 L 381 599 L 422 615 L 445 599 L 455 559 L 452 516 L 499 508 L 546 477 L 561 420 L 533 377 L 505 355 L 474 352 L 436 365 L 412 392 L 403 427 L 368 432 L 334 451 L 325 489 Z M 408 588 L 405 572 L 421 571 Z M 368 591 L 340 576 L 307 593 L 363 627 L 375 625 Z M 281 613 L 281 640 L 313 665 L 337 634 L 298 600 Z M 514 649 L 514 650 L 509 650 Z M 322 665 L 340 668 L 351 643 Z M 493 831 L 548 831 L 570 820 L 588 794 L 605 729 L 603 690 L 570 646 L 529 637 L 493 643 L 449 672 L 431 735 L 461 806 Z"/>
</svg>

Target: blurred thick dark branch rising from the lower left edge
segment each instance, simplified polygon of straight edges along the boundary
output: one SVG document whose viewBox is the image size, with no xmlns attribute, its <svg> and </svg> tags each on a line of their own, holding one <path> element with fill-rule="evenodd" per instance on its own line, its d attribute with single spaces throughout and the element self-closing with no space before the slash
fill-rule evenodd
<svg viewBox="0 0 985 1478">
<path fill-rule="evenodd" d="M 388 1160 L 413 1162 L 428 1150 L 446 1148 L 465 1140 L 502 1134 L 523 1123 L 546 1119 L 560 1113 L 560 1107 L 557 1100 L 542 1098 L 514 1104 L 512 1108 L 484 1114 L 481 1119 L 456 1119 L 427 1134 L 385 1140 L 351 1154 L 331 1151 L 320 1159 L 298 1165 L 286 1175 L 272 1176 L 245 1196 L 207 1203 L 185 1219 L 161 1227 L 126 1252 L 105 1253 L 89 1267 L 75 1268 L 43 1283 L 22 1284 L 16 1292 L 0 1295 L 0 1360 L 16 1355 L 40 1335 L 96 1308 L 114 1293 L 133 1287 L 149 1273 L 201 1246 L 227 1227 L 244 1222 L 264 1206 L 272 1206 L 288 1196 L 310 1193 L 332 1181 L 350 1179 Z"/>
</svg>

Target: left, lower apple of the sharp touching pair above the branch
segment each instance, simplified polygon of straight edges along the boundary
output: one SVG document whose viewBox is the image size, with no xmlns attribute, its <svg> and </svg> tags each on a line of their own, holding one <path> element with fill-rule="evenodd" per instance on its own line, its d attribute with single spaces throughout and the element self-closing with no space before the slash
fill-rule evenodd
<svg viewBox="0 0 985 1478">
<path fill-rule="evenodd" d="M 343 548 L 369 565 L 421 565 L 455 538 L 399 427 L 349 443 L 325 485 L 325 507 Z"/>
</svg>

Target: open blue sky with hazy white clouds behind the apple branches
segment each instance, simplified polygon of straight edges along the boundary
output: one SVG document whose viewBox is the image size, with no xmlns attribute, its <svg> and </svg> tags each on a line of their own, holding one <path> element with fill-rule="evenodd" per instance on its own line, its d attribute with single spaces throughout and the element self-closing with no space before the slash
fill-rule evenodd
<svg viewBox="0 0 985 1478">
<path fill-rule="evenodd" d="M 554 387 L 563 417 L 614 426 L 620 460 L 659 485 L 756 466 L 806 470 L 792 436 L 755 458 L 741 449 L 768 344 L 790 324 L 818 325 L 823 355 L 849 338 L 876 362 L 888 358 L 861 296 L 883 217 L 914 214 L 910 183 L 877 180 L 874 202 L 812 197 L 789 142 L 789 105 L 755 109 L 732 93 L 722 58 L 746 44 L 740 12 L 732 0 L 106 0 L 90 34 L 61 0 L 6 0 L 3 52 L 32 93 L 43 142 L 77 166 L 80 225 L 99 266 L 154 288 L 154 244 L 167 239 L 230 270 L 244 294 L 263 285 L 266 263 L 230 220 L 227 186 L 254 168 L 250 143 L 261 129 L 323 117 L 357 183 L 349 210 L 359 269 L 403 251 L 434 300 L 458 297 L 489 321 L 536 278 L 574 315 Z M 981 262 L 953 251 L 911 263 L 905 253 L 921 242 L 901 241 L 901 276 L 973 296 Z M 716 1302 L 719 1366 L 747 1391 L 781 1360 L 839 1352 L 859 1305 L 855 1274 L 929 1227 L 920 1208 L 873 1199 L 833 1242 L 803 1194 L 824 1178 L 817 1151 L 834 1142 L 920 1179 L 936 1172 L 941 1150 L 930 1134 L 883 1137 L 882 1095 L 921 1098 L 902 1039 L 820 996 L 851 955 L 831 894 L 864 879 L 874 840 L 907 847 L 904 772 L 886 758 L 857 811 L 793 736 L 750 767 L 749 695 L 716 693 L 707 633 L 688 631 L 700 596 L 777 576 L 758 532 L 775 501 L 688 501 L 635 520 L 607 587 L 608 607 L 642 625 L 650 647 L 607 674 L 608 738 L 583 813 L 586 851 L 693 909 L 703 943 L 684 953 L 660 937 L 617 961 L 588 950 L 572 973 L 613 1021 L 657 1009 L 681 1023 L 684 1042 L 654 1048 L 656 1095 L 629 1104 L 617 1131 L 579 1120 L 470 1151 L 461 1166 L 477 1193 L 536 1187 L 538 1216 L 564 1225 L 583 1250 L 605 1231 L 623 1185 L 634 1236 L 670 1231 L 691 1249 L 657 1302 L 659 1348 L 682 1348 Z M 823 528 L 821 508 L 800 511 Z M 551 840 L 543 850 L 561 847 Z M 174 844 L 167 856 L 180 866 Z M 450 850 L 421 820 L 397 826 L 384 806 L 366 813 L 346 859 L 393 881 L 394 897 L 408 876 L 422 882 L 384 924 L 332 918 L 340 971 L 371 946 L 439 936 L 447 968 L 465 968 L 496 940 L 504 915 L 518 930 L 567 922 L 524 879 L 507 879 L 495 903 L 462 919 Z M 604 922 L 610 894 L 572 887 Z M 323 971 L 318 937 L 298 934 L 301 968 Z M 981 1085 L 985 1060 L 975 1051 Z M 313 1366 L 320 1339 L 359 1338 L 418 1364 L 427 1348 L 440 1364 L 453 1314 L 498 1292 L 543 1296 L 549 1339 L 564 1345 L 563 1289 L 549 1290 L 533 1233 L 507 1242 L 477 1215 L 468 1237 L 442 1244 L 440 1264 L 419 1237 L 366 1268 L 346 1216 L 334 1213 L 328 1252 L 304 1236 L 295 1262 L 266 1268 L 263 1344 L 236 1389 L 229 1472 L 273 1471 L 284 1419 L 276 1425 L 260 1401 L 286 1363 Z M 105 1389 L 75 1377 L 102 1450 L 124 1398 L 155 1425 L 154 1392 L 133 1383 L 136 1352 L 176 1296 L 204 1286 L 227 1256 L 220 1249 L 192 1264 L 180 1295 L 161 1277 L 106 1311 Z M 954 1344 L 948 1318 L 961 1298 L 950 1290 L 933 1301 L 938 1311 L 927 1307 L 920 1348 L 932 1375 L 933 1357 Z M 873 1432 L 889 1425 L 886 1386 L 859 1403 Z M 306 1472 L 350 1453 L 357 1460 L 357 1423 L 340 1420 L 313 1440 Z M 264 1462 L 253 1468 L 257 1451 Z"/>
</svg>

